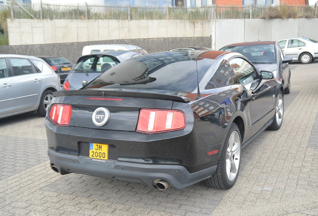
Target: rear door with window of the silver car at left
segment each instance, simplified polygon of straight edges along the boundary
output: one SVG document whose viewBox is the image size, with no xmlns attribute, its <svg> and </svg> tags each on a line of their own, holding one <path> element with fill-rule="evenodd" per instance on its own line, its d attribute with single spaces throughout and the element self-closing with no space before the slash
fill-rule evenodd
<svg viewBox="0 0 318 216">
<path fill-rule="evenodd" d="M 9 58 L 14 84 L 14 112 L 32 109 L 41 96 L 43 79 L 27 58 Z"/>
</svg>

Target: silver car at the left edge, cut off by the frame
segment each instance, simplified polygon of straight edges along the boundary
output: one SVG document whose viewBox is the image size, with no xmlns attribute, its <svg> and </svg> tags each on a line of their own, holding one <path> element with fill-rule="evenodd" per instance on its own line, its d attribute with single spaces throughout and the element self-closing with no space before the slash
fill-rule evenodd
<svg viewBox="0 0 318 216">
<path fill-rule="evenodd" d="M 34 56 L 0 54 L 0 118 L 37 110 L 45 116 L 59 76 Z"/>
</svg>

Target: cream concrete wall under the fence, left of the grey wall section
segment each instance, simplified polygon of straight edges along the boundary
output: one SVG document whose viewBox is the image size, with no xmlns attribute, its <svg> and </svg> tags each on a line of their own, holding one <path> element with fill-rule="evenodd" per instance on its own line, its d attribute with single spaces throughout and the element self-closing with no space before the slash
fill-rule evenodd
<svg viewBox="0 0 318 216">
<path fill-rule="evenodd" d="M 211 20 L 7 19 L 9 45 L 210 36 Z"/>
</svg>

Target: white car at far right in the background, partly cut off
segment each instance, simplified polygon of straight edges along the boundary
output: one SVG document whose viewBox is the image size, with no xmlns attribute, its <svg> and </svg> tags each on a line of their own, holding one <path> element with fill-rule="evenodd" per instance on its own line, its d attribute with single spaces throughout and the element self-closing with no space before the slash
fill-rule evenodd
<svg viewBox="0 0 318 216">
<path fill-rule="evenodd" d="M 318 58 L 318 41 L 316 40 L 307 37 L 295 37 L 281 39 L 277 43 L 284 54 L 291 57 L 293 61 L 307 64 Z"/>
</svg>

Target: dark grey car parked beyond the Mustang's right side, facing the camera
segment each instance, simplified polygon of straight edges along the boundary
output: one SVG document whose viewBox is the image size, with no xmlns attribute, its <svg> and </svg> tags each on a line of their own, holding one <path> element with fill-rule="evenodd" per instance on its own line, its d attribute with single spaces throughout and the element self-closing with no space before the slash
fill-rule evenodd
<svg viewBox="0 0 318 216">
<path fill-rule="evenodd" d="M 238 52 L 248 58 L 258 70 L 271 71 L 282 81 L 283 93 L 290 92 L 290 57 L 284 56 L 276 41 L 256 41 L 232 43 L 220 50 Z"/>
</svg>

